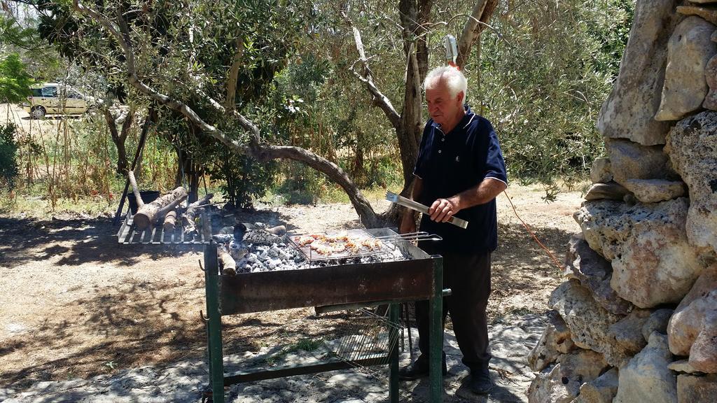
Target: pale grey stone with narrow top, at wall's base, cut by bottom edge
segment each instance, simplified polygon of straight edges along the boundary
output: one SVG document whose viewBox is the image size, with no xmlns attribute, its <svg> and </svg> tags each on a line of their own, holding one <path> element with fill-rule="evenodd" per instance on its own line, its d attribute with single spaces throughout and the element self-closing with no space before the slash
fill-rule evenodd
<svg viewBox="0 0 717 403">
<path fill-rule="evenodd" d="M 677 377 L 668 369 L 670 361 L 667 336 L 652 333 L 647 347 L 620 369 L 613 403 L 676 403 Z"/>
</svg>

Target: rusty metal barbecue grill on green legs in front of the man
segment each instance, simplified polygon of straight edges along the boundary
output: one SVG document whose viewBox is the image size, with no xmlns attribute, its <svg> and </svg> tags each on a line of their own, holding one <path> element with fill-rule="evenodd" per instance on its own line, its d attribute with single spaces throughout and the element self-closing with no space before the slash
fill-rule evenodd
<svg viewBox="0 0 717 403">
<path fill-rule="evenodd" d="M 361 230 L 364 231 L 364 230 Z M 224 387 L 247 381 L 275 379 L 284 376 L 315 374 L 323 371 L 349 369 L 354 366 L 381 365 L 389 362 L 389 397 L 397 403 L 399 303 L 428 299 L 431 305 L 431 362 L 429 395 L 431 402 L 442 401 L 442 258 L 429 256 L 411 242 L 400 242 L 391 229 L 367 229 L 366 234 L 379 238 L 386 248 L 399 250 L 404 260 L 351 262 L 351 256 L 324 260 L 328 265 L 306 265 L 297 270 L 245 272 L 222 275 L 217 258 L 217 245 L 210 242 L 204 249 L 204 280 L 206 291 L 206 333 L 209 351 L 211 399 L 224 403 Z M 393 241 L 391 241 L 393 240 Z M 399 241 L 399 242 L 397 242 Z M 383 247 L 382 247 L 383 249 Z M 312 253 L 305 251 L 309 256 Z M 386 252 L 378 250 L 376 253 Z M 357 252 L 366 256 L 366 251 Z M 342 260 L 349 258 L 349 263 Z M 282 366 L 260 371 L 224 373 L 222 351 L 222 316 L 305 307 L 333 308 L 359 305 L 389 305 L 389 349 L 387 354 L 337 357 L 321 364 Z M 337 307 L 338 305 L 338 307 Z"/>
</svg>

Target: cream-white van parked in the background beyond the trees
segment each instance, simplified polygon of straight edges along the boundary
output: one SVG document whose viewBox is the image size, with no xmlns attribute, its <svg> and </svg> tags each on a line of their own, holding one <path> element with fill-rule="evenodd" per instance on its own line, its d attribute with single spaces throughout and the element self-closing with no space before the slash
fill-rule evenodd
<svg viewBox="0 0 717 403">
<path fill-rule="evenodd" d="M 48 114 L 81 115 L 87 111 L 91 98 L 69 85 L 53 82 L 33 85 L 30 90 L 32 95 L 27 97 L 28 103 L 23 103 L 22 108 L 34 119 Z"/>
</svg>

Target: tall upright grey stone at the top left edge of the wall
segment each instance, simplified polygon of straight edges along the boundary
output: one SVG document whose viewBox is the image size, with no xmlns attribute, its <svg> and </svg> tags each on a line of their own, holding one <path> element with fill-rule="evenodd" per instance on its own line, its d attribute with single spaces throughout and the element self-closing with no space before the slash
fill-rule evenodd
<svg viewBox="0 0 717 403">
<path fill-rule="evenodd" d="M 675 0 L 637 0 L 617 81 L 597 118 L 603 136 L 646 146 L 665 143 L 670 126 L 653 117 L 660 106 L 668 39 L 682 18 L 675 5 Z"/>
</svg>

